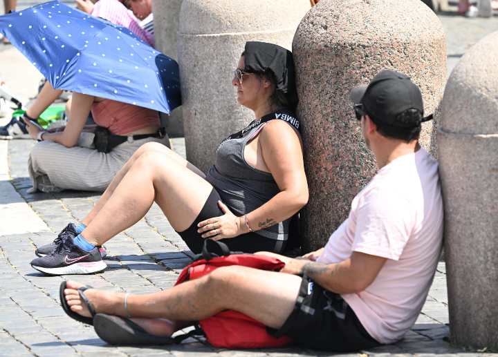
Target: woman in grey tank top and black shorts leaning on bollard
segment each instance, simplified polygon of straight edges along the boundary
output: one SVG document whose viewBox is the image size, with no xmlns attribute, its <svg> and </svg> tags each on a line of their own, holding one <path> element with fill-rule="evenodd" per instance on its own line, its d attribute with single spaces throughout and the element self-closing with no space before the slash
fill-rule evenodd
<svg viewBox="0 0 498 357">
<path fill-rule="evenodd" d="M 98 247 L 154 202 L 194 253 L 205 238 L 223 239 L 232 251 L 281 253 L 288 219 L 308 201 L 299 122 L 291 114 L 297 104 L 291 52 L 248 42 L 232 84 L 257 119 L 221 142 L 207 175 L 165 146 L 142 146 L 81 224 L 68 224 L 37 250 L 52 253 L 33 260 L 33 268 L 59 275 L 104 270 Z"/>
</svg>

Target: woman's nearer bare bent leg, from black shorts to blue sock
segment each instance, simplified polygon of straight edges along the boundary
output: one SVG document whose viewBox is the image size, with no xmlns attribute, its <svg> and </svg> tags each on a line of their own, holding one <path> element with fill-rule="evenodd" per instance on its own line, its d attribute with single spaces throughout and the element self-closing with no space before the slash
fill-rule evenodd
<svg viewBox="0 0 498 357">
<path fill-rule="evenodd" d="M 83 237 L 102 245 L 140 220 L 154 201 L 176 231 L 184 231 L 203 208 L 212 186 L 158 151 L 142 153 L 87 224 Z M 86 224 L 86 223 L 85 223 Z"/>
</svg>

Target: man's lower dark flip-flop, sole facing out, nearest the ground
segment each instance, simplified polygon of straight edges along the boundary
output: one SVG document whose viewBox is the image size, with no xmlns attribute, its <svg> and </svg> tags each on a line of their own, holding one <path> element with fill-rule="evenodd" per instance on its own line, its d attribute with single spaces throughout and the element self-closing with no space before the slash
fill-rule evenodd
<svg viewBox="0 0 498 357">
<path fill-rule="evenodd" d="M 110 345 L 137 346 L 178 343 L 172 337 L 149 334 L 129 318 L 107 315 L 107 313 L 98 313 L 93 316 L 93 328 L 98 336 Z"/>
</svg>

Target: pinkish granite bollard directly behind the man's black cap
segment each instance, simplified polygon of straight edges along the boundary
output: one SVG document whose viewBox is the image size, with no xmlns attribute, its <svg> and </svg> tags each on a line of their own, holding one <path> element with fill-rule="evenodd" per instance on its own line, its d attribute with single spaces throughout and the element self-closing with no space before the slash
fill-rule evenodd
<svg viewBox="0 0 498 357">
<path fill-rule="evenodd" d="M 425 114 L 433 113 L 445 84 L 445 35 L 420 0 L 320 1 L 299 24 L 293 54 L 310 189 L 302 243 L 310 250 L 323 247 L 376 172 L 349 90 L 367 84 L 379 70 L 395 69 L 421 88 Z M 427 149 L 433 126 L 423 125 Z"/>
</svg>

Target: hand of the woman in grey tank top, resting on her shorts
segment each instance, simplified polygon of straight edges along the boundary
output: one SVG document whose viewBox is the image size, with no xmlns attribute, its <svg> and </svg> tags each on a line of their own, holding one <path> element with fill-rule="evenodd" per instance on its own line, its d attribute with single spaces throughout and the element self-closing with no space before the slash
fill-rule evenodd
<svg viewBox="0 0 498 357">
<path fill-rule="evenodd" d="M 222 240 L 242 234 L 243 227 L 240 217 L 234 215 L 223 202 L 218 201 L 218 206 L 225 214 L 199 222 L 197 232 L 202 233 L 201 237 Z"/>
</svg>

